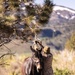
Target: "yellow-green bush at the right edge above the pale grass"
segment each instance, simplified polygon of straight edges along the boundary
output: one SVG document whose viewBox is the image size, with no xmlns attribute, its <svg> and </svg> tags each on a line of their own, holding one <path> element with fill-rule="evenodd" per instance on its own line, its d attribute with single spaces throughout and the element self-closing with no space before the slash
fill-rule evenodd
<svg viewBox="0 0 75 75">
<path fill-rule="evenodd" d="M 70 39 L 66 42 L 65 48 L 68 50 L 75 50 L 75 32 L 72 34 Z"/>
</svg>

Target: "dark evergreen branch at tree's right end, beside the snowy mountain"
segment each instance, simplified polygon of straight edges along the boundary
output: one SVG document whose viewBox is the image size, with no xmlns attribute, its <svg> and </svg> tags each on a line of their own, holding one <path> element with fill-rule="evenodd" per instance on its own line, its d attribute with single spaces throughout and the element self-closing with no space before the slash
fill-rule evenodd
<svg viewBox="0 0 75 75">
<path fill-rule="evenodd" d="M 42 12 L 39 15 L 39 22 L 40 23 L 47 23 L 49 17 L 52 13 L 53 3 L 50 0 L 44 1 L 44 7 L 42 8 Z"/>
</svg>

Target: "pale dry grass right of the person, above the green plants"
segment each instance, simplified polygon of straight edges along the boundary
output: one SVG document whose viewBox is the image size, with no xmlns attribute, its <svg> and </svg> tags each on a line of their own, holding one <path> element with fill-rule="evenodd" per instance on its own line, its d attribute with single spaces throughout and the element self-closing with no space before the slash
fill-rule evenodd
<svg viewBox="0 0 75 75">
<path fill-rule="evenodd" d="M 75 52 L 68 50 L 60 51 L 59 54 L 54 55 L 53 69 L 68 70 L 71 75 L 75 75 Z"/>
</svg>

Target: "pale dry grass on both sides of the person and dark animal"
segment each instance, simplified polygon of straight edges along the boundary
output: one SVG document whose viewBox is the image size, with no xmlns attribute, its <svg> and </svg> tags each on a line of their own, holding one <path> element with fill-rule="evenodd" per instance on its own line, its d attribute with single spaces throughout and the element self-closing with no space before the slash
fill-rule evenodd
<svg viewBox="0 0 75 75">
<path fill-rule="evenodd" d="M 23 60 L 31 56 L 31 54 L 21 54 L 16 56 L 5 57 L 0 59 L 1 62 L 5 62 L 8 65 L 0 65 L 0 75 L 21 75 L 21 65 Z M 67 50 L 56 53 L 53 58 L 53 70 L 56 69 L 64 72 L 66 69 L 71 74 L 55 74 L 55 75 L 75 75 L 75 52 L 69 52 Z M 59 71 L 59 72 L 60 72 Z M 67 71 L 65 71 L 67 72 Z"/>
</svg>

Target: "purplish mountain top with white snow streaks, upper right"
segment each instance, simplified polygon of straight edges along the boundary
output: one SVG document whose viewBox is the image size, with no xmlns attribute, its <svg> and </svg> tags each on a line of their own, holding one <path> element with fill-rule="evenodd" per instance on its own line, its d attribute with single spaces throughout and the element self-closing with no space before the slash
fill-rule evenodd
<svg viewBox="0 0 75 75">
<path fill-rule="evenodd" d="M 54 6 L 50 22 L 55 24 L 64 23 L 73 19 L 75 19 L 75 10 L 64 6 Z"/>
</svg>

